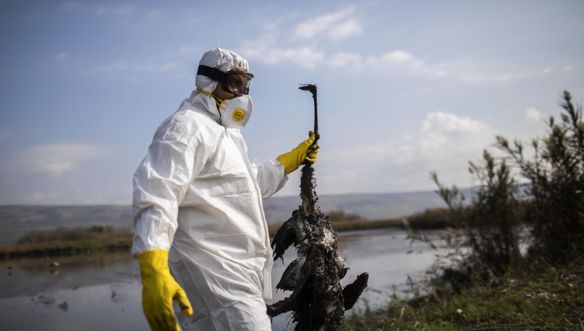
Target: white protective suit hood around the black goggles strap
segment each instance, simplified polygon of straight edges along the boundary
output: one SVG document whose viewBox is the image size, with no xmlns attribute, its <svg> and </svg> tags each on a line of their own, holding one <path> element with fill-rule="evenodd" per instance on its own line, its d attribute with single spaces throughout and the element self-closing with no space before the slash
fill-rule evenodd
<svg viewBox="0 0 584 331">
<path fill-rule="evenodd" d="M 206 65 L 207 67 L 218 67 L 223 72 L 231 71 L 235 68 L 242 68 L 245 71 L 249 71 L 248 61 L 239 56 L 237 53 L 224 50 L 223 48 L 213 48 L 212 50 L 203 54 L 199 65 Z M 197 75 L 195 78 L 195 85 L 197 89 L 201 89 L 207 93 L 213 93 L 213 90 L 217 87 L 218 82 L 203 76 Z M 199 106 L 198 108 L 203 108 L 207 111 L 208 115 L 221 124 L 221 115 L 215 106 L 215 101 L 213 97 L 204 95 L 197 90 L 194 90 L 189 97 L 189 102 L 193 106 Z"/>
</svg>

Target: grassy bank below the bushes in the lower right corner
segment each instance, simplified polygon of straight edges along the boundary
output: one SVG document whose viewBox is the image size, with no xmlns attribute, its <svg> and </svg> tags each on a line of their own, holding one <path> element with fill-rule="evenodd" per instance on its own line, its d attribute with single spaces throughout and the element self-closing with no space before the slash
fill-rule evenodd
<svg viewBox="0 0 584 331">
<path fill-rule="evenodd" d="M 506 274 L 460 292 L 434 287 L 383 311 L 353 312 L 339 330 L 465 330 L 527 327 L 584 331 L 584 266 Z"/>
</svg>

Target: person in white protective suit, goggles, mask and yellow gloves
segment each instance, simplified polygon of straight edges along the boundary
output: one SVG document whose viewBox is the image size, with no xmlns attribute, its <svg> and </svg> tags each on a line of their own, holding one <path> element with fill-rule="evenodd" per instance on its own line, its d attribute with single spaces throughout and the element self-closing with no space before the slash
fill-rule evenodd
<svg viewBox="0 0 584 331">
<path fill-rule="evenodd" d="M 305 160 L 314 162 L 318 144 L 310 133 L 291 152 L 249 162 L 239 128 L 253 111 L 252 79 L 238 54 L 205 53 L 197 89 L 158 127 L 135 172 L 132 253 L 152 330 L 179 330 L 175 311 L 183 330 L 271 328 L 263 298 L 272 297 L 273 258 L 262 198 Z"/>
</svg>

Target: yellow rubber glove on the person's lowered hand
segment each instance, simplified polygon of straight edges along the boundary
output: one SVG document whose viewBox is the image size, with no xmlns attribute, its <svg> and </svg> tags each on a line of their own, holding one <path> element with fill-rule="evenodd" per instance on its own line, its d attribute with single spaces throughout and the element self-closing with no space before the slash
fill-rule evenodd
<svg viewBox="0 0 584 331">
<path fill-rule="evenodd" d="M 154 249 L 138 254 L 142 276 L 142 308 L 153 331 L 180 331 L 172 309 L 179 302 L 183 314 L 193 315 L 189 299 L 168 269 L 168 250 Z"/>
</svg>

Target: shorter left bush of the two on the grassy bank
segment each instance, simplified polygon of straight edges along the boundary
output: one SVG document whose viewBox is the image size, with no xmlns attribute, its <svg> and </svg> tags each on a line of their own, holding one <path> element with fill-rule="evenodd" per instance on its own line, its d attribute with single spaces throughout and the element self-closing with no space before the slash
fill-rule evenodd
<svg viewBox="0 0 584 331">
<path fill-rule="evenodd" d="M 446 222 L 454 227 L 447 236 L 449 258 L 455 269 L 481 278 L 504 274 L 521 257 L 523 213 L 516 199 L 517 186 L 506 162 L 496 161 L 487 151 L 481 163 L 470 162 L 469 170 L 481 183 L 470 205 L 456 186 L 447 189 L 436 173 L 431 174 L 450 211 Z"/>
</svg>

